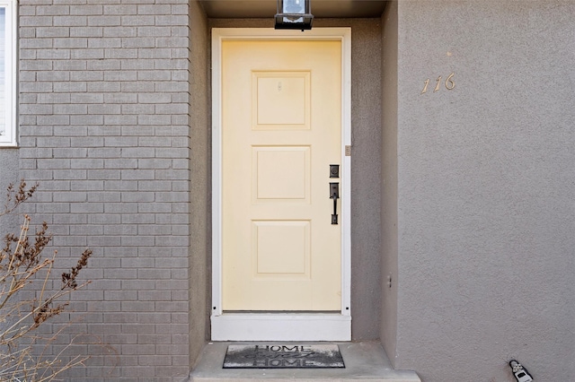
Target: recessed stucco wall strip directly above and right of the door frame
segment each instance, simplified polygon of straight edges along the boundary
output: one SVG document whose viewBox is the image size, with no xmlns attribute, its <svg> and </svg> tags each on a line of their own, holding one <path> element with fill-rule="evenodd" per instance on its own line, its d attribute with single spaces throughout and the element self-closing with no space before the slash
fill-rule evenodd
<svg viewBox="0 0 575 382">
<path fill-rule="evenodd" d="M 209 21 L 214 28 L 273 28 L 273 20 Z M 353 340 L 379 338 L 381 22 L 318 19 L 314 28 L 351 27 L 351 317 Z"/>
</svg>

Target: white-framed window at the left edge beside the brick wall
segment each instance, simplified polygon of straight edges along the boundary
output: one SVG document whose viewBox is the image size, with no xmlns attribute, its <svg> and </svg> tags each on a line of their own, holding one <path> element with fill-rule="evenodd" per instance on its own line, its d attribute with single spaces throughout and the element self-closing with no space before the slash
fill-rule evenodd
<svg viewBox="0 0 575 382">
<path fill-rule="evenodd" d="M 16 145 L 16 12 L 0 0 L 0 146 Z"/>
</svg>

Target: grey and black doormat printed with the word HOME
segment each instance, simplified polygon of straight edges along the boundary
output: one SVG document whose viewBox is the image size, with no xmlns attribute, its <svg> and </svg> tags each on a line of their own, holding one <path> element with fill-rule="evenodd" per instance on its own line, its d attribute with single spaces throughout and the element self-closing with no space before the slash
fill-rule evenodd
<svg viewBox="0 0 575 382">
<path fill-rule="evenodd" d="M 228 345 L 224 369 L 345 368 L 337 344 Z"/>
</svg>

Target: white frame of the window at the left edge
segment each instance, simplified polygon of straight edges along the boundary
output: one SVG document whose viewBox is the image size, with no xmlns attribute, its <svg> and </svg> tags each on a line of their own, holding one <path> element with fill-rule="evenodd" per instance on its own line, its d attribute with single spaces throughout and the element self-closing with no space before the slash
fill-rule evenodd
<svg viewBox="0 0 575 382">
<path fill-rule="evenodd" d="M 0 0 L 5 9 L 4 35 L 4 126 L 0 126 L 0 147 L 15 147 L 16 135 L 16 1 Z"/>
</svg>

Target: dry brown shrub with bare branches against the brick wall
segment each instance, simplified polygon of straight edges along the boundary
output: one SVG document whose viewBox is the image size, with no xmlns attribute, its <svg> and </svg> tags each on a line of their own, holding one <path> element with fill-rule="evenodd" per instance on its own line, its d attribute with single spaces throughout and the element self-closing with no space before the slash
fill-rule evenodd
<svg viewBox="0 0 575 382">
<path fill-rule="evenodd" d="M 0 216 L 13 213 L 37 188 L 38 184 L 27 188 L 23 179 L 17 189 L 11 184 Z M 84 250 L 76 265 L 61 274 L 60 286 L 53 289 L 52 270 L 57 251 L 49 258 L 42 257 L 52 235 L 44 221 L 31 238 L 30 223 L 31 217 L 24 215 L 19 235 L 6 234 L 0 249 L 0 381 L 51 380 L 67 369 L 84 365 L 89 358 L 64 356 L 66 350 L 77 344 L 75 339 L 56 354 L 48 352 L 62 328 L 48 337 L 38 334 L 38 328 L 66 311 L 67 296 L 89 283 L 79 282 L 78 275 L 88 265 L 92 250 Z M 22 291 L 32 291 L 36 297 L 21 298 Z M 38 352 L 42 342 L 44 348 Z"/>
</svg>

